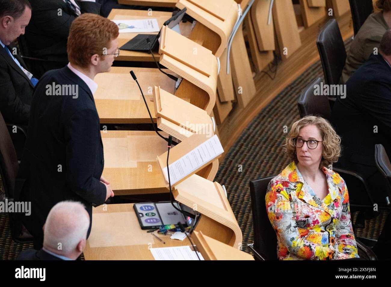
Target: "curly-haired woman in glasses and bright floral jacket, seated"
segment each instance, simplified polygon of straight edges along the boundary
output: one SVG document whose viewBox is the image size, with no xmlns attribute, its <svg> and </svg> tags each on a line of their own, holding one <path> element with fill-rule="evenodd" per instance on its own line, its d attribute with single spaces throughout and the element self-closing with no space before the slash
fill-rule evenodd
<svg viewBox="0 0 391 287">
<path fill-rule="evenodd" d="M 344 180 L 331 165 L 341 138 L 323 118 L 292 125 L 285 147 L 292 162 L 269 183 L 267 214 L 280 260 L 358 258 Z"/>
</svg>

